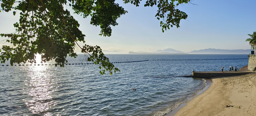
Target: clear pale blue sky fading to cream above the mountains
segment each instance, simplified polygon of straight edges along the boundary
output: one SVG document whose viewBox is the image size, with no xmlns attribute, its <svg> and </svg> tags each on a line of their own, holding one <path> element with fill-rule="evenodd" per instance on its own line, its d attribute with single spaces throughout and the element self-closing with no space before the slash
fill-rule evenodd
<svg viewBox="0 0 256 116">
<path fill-rule="evenodd" d="M 73 14 L 78 20 L 79 29 L 86 35 L 88 45 L 98 45 L 103 50 L 132 52 L 155 52 L 167 48 L 190 52 L 200 49 L 250 49 L 245 42 L 256 31 L 256 0 L 194 0 L 193 4 L 179 5 L 188 18 L 180 22 L 180 27 L 170 28 L 162 33 L 160 21 L 155 14 L 158 8 L 144 7 L 142 0 L 139 7 L 132 4 L 120 6 L 128 11 L 117 19 L 117 26 L 112 26 L 110 37 L 100 36 L 100 27 L 90 25 L 90 17 L 83 18 Z M 18 14 L 18 13 L 17 13 Z M 72 14 L 72 11 L 71 11 Z M 19 16 L 12 11 L 0 13 L 0 33 L 14 32 L 13 24 Z M 0 45 L 4 43 L 0 38 Z M 83 45 L 83 43 L 79 43 Z"/>
</svg>

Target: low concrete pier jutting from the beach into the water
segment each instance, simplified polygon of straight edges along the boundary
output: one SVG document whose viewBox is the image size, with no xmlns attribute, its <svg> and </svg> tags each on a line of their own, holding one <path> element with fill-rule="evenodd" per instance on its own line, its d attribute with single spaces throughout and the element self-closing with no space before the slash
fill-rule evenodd
<svg viewBox="0 0 256 116">
<path fill-rule="evenodd" d="M 226 76 L 237 76 L 237 75 L 244 75 L 249 73 L 255 73 L 253 71 L 211 71 L 211 72 L 192 72 L 192 77 L 195 78 L 211 78 L 211 77 L 226 77 Z"/>
</svg>

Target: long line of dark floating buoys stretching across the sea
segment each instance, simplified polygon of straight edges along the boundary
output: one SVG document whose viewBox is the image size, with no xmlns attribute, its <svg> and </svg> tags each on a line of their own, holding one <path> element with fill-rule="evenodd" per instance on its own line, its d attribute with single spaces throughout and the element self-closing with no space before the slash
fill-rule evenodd
<svg viewBox="0 0 256 116">
<path fill-rule="evenodd" d="M 129 61 L 129 62 L 111 62 L 111 63 L 135 63 L 135 62 L 145 62 L 145 61 L 184 61 L 184 60 L 240 60 L 240 59 L 249 59 L 249 58 L 234 58 L 234 59 L 175 59 L 175 60 L 143 60 L 143 61 Z M 66 63 L 66 65 L 85 65 L 85 64 L 94 64 L 94 63 Z M 100 63 L 101 64 L 101 63 Z M 54 64 L 15 64 L 14 66 L 42 66 L 42 65 L 54 65 Z M 2 66 L 9 66 L 2 65 Z"/>
</svg>

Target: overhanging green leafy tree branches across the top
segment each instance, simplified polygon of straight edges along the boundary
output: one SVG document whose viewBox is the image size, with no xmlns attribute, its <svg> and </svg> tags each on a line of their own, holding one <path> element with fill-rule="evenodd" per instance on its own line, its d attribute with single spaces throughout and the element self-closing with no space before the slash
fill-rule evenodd
<svg viewBox="0 0 256 116">
<path fill-rule="evenodd" d="M 131 3 L 139 6 L 142 0 L 123 0 L 125 4 Z M 159 8 L 155 17 L 160 21 L 162 32 L 170 29 L 170 26 L 180 27 L 180 20 L 186 19 L 187 14 L 177 9 L 176 6 L 187 4 L 190 0 L 147 0 L 144 6 L 157 5 Z M 99 46 L 84 44 L 80 46 L 78 41 L 85 43 L 85 35 L 78 29 L 79 23 L 63 6 L 72 7 L 74 13 L 81 14 L 83 18 L 91 16 L 90 24 L 100 26 L 99 35 L 111 36 L 111 25 L 117 25 L 117 18 L 128 13 L 115 0 L 0 0 L 1 11 L 15 10 L 13 15 L 20 12 L 19 22 L 14 24 L 16 32 L 1 34 L 8 37 L 0 50 L 1 63 L 10 60 L 13 63 L 36 63 L 35 54 L 41 54 L 42 62 L 55 60 L 55 66 L 61 67 L 67 63 L 67 55 L 76 57 L 76 46 L 87 56 L 87 61 L 99 64 L 100 73 L 115 73 L 115 68 L 109 59 L 102 53 Z M 14 6 L 14 3 L 18 3 Z M 103 68 L 103 69 L 102 69 Z"/>
</svg>

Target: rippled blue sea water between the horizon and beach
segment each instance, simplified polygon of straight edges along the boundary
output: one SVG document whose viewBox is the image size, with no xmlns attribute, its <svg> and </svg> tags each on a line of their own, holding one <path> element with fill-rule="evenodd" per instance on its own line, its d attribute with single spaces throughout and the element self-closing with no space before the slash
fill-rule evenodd
<svg viewBox="0 0 256 116">
<path fill-rule="evenodd" d="M 247 55 L 131 55 L 107 54 L 121 72 L 100 75 L 97 65 L 0 67 L 1 115 L 162 116 L 201 91 L 203 79 L 183 77 L 195 71 L 241 68 Z M 86 63 L 83 55 L 69 63 Z M 45 63 L 49 64 L 49 63 Z M 51 63 L 52 64 L 52 63 Z M 133 89 L 136 88 L 136 91 Z"/>
</svg>

